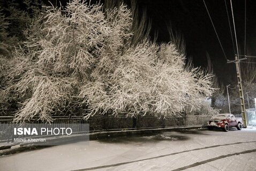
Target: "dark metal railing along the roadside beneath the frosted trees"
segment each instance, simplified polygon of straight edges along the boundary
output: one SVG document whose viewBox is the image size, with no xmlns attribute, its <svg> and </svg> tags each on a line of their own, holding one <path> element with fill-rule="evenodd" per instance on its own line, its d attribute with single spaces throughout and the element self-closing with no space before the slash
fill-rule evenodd
<svg viewBox="0 0 256 171">
<path fill-rule="evenodd" d="M 150 129 L 150 128 L 174 128 L 184 126 L 202 126 L 206 125 L 212 115 L 186 115 L 186 116 L 169 116 L 157 118 L 155 116 L 137 116 L 137 118 L 127 118 L 125 116 L 93 116 L 84 120 L 82 116 L 52 116 L 52 124 L 69 123 L 89 123 L 89 131 L 107 131 L 107 130 L 132 130 L 132 129 Z M 13 116 L 0 116 L 0 142 L 9 140 L 11 135 L 3 137 L 1 134 L 8 133 L 8 123 L 12 123 Z M 27 121 L 28 122 L 28 121 Z M 43 123 L 39 118 L 33 118 L 28 123 Z M 6 136 L 6 134 L 5 134 Z"/>
</svg>

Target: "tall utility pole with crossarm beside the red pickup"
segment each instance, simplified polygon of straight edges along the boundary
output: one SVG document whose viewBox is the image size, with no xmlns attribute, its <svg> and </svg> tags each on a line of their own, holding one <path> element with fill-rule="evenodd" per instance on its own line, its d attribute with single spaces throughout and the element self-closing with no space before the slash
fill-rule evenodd
<svg viewBox="0 0 256 171">
<path fill-rule="evenodd" d="M 240 98 L 240 106 L 241 106 L 241 113 L 242 119 L 244 122 L 244 128 L 247 127 L 247 117 L 245 115 L 245 106 L 244 106 L 244 94 L 243 94 L 243 87 L 242 87 L 242 79 L 240 73 L 240 60 L 245 60 L 247 58 L 238 59 L 237 55 L 235 56 L 235 60 L 228 60 L 228 63 L 235 63 L 236 64 L 236 72 L 237 72 L 237 81 L 238 81 L 238 88 L 239 88 L 239 98 Z"/>
</svg>

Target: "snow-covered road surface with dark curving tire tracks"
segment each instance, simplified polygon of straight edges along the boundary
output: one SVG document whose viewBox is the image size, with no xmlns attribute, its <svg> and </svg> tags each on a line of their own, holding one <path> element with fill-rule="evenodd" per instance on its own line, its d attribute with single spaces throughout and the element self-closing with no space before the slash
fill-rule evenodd
<svg viewBox="0 0 256 171">
<path fill-rule="evenodd" d="M 172 131 L 0 157 L 0 170 L 256 170 L 256 128 Z"/>
</svg>

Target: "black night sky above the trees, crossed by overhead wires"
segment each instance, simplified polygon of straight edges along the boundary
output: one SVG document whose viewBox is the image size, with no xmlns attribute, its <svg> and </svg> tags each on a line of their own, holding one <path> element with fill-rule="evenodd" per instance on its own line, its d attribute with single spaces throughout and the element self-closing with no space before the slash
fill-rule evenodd
<svg viewBox="0 0 256 171">
<path fill-rule="evenodd" d="M 234 37 L 234 26 L 230 1 L 227 0 L 227 8 Z M 212 23 L 202 0 L 172 0 L 172 1 L 138 1 L 139 7 L 146 8 L 148 17 L 152 20 L 153 32 L 158 31 L 158 42 L 169 42 L 167 24 L 171 23 L 184 35 L 187 57 L 192 57 L 195 66 L 206 67 L 206 52 L 209 53 L 213 63 L 213 69 L 219 77 L 219 81 L 225 84 L 236 84 L 235 64 L 227 64 L 220 43 L 214 32 Z M 234 48 L 232 45 L 228 15 L 224 0 L 205 0 L 209 13 L 214 22 L 217 34 L 220 37 L 224 52 L 229 60 L 234 60 Z M 232 1 L 238 49 L 240 55 L 244 55 L 245 33 L 245 1 Z M 254 44 L 256 43 L 256 1 L 246 1 L 246 55 L 256 55 Z M 152 32 L 152 35 L 153 35 Z M 236 48 L 236 44 L 235 44 Z"/>
</svg>

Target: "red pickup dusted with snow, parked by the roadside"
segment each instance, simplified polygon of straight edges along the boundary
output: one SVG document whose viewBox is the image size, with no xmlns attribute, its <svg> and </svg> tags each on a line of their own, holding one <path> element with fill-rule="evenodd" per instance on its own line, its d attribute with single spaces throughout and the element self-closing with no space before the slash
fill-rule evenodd
<svg viewBox="0 0 256 171">
<path fill-rule="evenodd" d="M 229 131 L 229 127 L 236 127 L 241 130 L 243 127 L 242 118 L 236 118 L 234 114 L 221 113 L 214 115 L 208 122 L 207 127 L 212 130 L 213 128 L 222 128 L 225 132 Z"/>
</svg>

